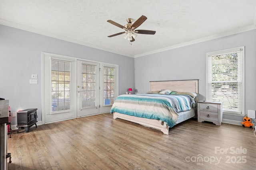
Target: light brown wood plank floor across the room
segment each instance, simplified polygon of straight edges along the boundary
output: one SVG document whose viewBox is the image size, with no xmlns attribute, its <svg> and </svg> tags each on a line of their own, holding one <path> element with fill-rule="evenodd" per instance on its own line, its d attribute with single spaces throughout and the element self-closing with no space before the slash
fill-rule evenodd
<svg viewBox="0 0 256 170">
<path fill-rule="evenodd" d="M 256 169 L 256 137 L 250 128 L 188 120 L 164 135 L 112 117 L 100 114 L 14 133 L 8 136 L 8 169 Z"/>
</svg>

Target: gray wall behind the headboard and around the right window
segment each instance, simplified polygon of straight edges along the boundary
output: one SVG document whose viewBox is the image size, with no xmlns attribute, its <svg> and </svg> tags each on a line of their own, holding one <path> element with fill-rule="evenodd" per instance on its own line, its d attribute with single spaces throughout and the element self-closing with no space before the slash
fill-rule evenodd
<svg viewBox="0 0 256 170">
<path fill-rule="evenodd" d="M 149 81 L 199 79 L 199 100 L 206 100 L 206 53 L 245 46 L 245 113 L 256 110 L 256 30 L 135 58 L 135 88 L 144 93 Z M 223 119 L 242 121 L 224 115 Z"/>
</svg>

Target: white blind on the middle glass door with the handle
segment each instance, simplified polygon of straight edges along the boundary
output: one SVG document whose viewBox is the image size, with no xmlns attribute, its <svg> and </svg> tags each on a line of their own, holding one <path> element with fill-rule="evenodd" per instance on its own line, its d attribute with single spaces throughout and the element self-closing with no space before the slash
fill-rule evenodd
<svg viewBox="0 0 256 170">
<path fill-rule="evenodd" d="M 96 106 L 96 65 L 81 64 L 80 109 Z"/>
</svg>

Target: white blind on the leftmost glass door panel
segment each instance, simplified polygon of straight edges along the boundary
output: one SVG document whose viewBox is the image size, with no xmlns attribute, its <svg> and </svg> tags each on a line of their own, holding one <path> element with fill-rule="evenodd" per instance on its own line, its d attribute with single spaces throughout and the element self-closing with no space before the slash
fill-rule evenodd
<svg viewBox="0 0 256 170">
<path fill-rule="evenodd" d="M 51 111 L 70 110 L 71 62 L 51 59 Z"/>
</svg>

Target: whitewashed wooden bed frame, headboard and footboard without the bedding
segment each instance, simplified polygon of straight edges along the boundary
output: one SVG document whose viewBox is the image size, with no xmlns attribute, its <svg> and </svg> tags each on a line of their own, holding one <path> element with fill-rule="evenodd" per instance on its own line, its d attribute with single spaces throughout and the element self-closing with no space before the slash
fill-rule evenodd
<svg viewBox="0 0 256 170">
<path fill-rule="evenodd" d="M 198 93 L 198 80 L 173 80 L 173 81 L 151 81 L 150 91 L 156 90 L 172 90 L 176 92 L 196 92 Z M 197 101 L 197 98 L 196 98 Z M 146 119 L 141 117 L 134 117 L 130 115 L 125 115 L 122 113 L 113 113 L 113 118 L 124 119 L 134 123 L 139 123 L 141 125 L 159 129 L 164 134 L 169 135 L 169 126 L 164 121 L 155 119 Z"/>
</svg>

